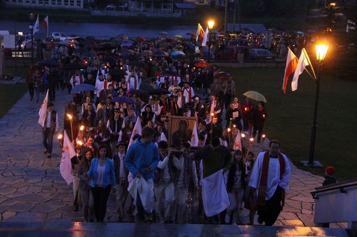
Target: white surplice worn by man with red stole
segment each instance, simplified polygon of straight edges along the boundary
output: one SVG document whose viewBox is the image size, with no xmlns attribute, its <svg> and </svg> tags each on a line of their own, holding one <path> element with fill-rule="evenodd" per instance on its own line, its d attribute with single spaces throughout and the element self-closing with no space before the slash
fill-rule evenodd
<svg viewBox="0 0 357 237">
<path fill-rule="evenodd" d="M 258 192 L 260 175 L 262 174 L 262 166 L 264 160 L 264 153 L 261 152 L 257 156 L 257 160 L 254 163 L 253 171 L 251 173 L 251 180 L 249 182 L 249 186 L 256 189 Z M 279 185 L 281 188 L 285 190 L 289 190 L 289 179 L 290 179 L 290 163 L 286 155 L 283 154 L 285 160 L 285 171 L 280 179 L 280 164 L 279 159 L 277 158 L 269 158 L 269 170 L 268 170 L 268 180 L 266 182 L 266 196 L 265 199 L 268 200 L 273 197 L 275 190 L 277 190 L 277 186 Z"/>
</svg>

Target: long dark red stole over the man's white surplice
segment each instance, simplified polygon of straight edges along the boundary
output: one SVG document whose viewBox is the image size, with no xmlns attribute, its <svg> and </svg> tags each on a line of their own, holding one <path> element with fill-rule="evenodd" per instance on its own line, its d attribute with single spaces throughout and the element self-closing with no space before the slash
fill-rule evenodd
<svg viewBox="0 0 357 237">
<path fill-rule="evenodd" d="M 280 179 L 285 171 L 285 160 L 284 156 L 281 153 L 277 153 L 279 157 L 279 165 L 280 165 Z M 268 182 L 268 171 L 269 171 L 269 151 L 264 153 L 264 160 L 262 166 L 262 175 L 260 176 L 260 182 L 258 187 L 258 198 L 257 205 L 265 206 L 265 196 L 266 196 L 266 183 Z M 284 199 L 284 197 L 281 197 Z"/>
</svg>

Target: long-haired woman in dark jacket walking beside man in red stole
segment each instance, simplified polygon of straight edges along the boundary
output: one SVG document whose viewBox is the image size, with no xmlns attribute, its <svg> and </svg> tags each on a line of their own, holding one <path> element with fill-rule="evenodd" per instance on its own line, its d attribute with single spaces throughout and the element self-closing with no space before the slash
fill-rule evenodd
<svg viewBox="0 0 357 237">
<path fill-rule="evenodd" d="M 240 222 L 239 212 L 240 203 L 242 202 L 244 189 L 246 188 L 246 164 L 242 151 L 235 150 L 233 155 L 233 163 L 229 169 L 227 180 L 227 192 L 231 205 L 227 208 L 227 214 L 224 219 L 225 223 L 230 223 L 231 214 L 233 212 L 232 223 Z"/>
</svg>

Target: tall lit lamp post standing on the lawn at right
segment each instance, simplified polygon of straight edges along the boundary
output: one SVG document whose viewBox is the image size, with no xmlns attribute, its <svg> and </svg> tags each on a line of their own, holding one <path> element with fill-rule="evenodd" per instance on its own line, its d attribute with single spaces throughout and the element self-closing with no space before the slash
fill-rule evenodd
<svg viewBox="0 0 357 237">
<path fill-rule="evenodd" d="M 323 60 L 325 60 L 327 49 L 328 49 L 327 45 L 316 45 L 317 78 L 316 78 L 316 95 L 315 95 L 315 105 L 314 105 L 314 120 L 312 121 L 311 140 L 310 140 L 310 154 L 309 154 L 310 165 L 314 165 L 316 119 L 317 119 L 317 108 L 319 106 L 318 104 L 319 104 L 320 75 L 322 70 L 321 65 L 323 64 Z"/>
</svg>

